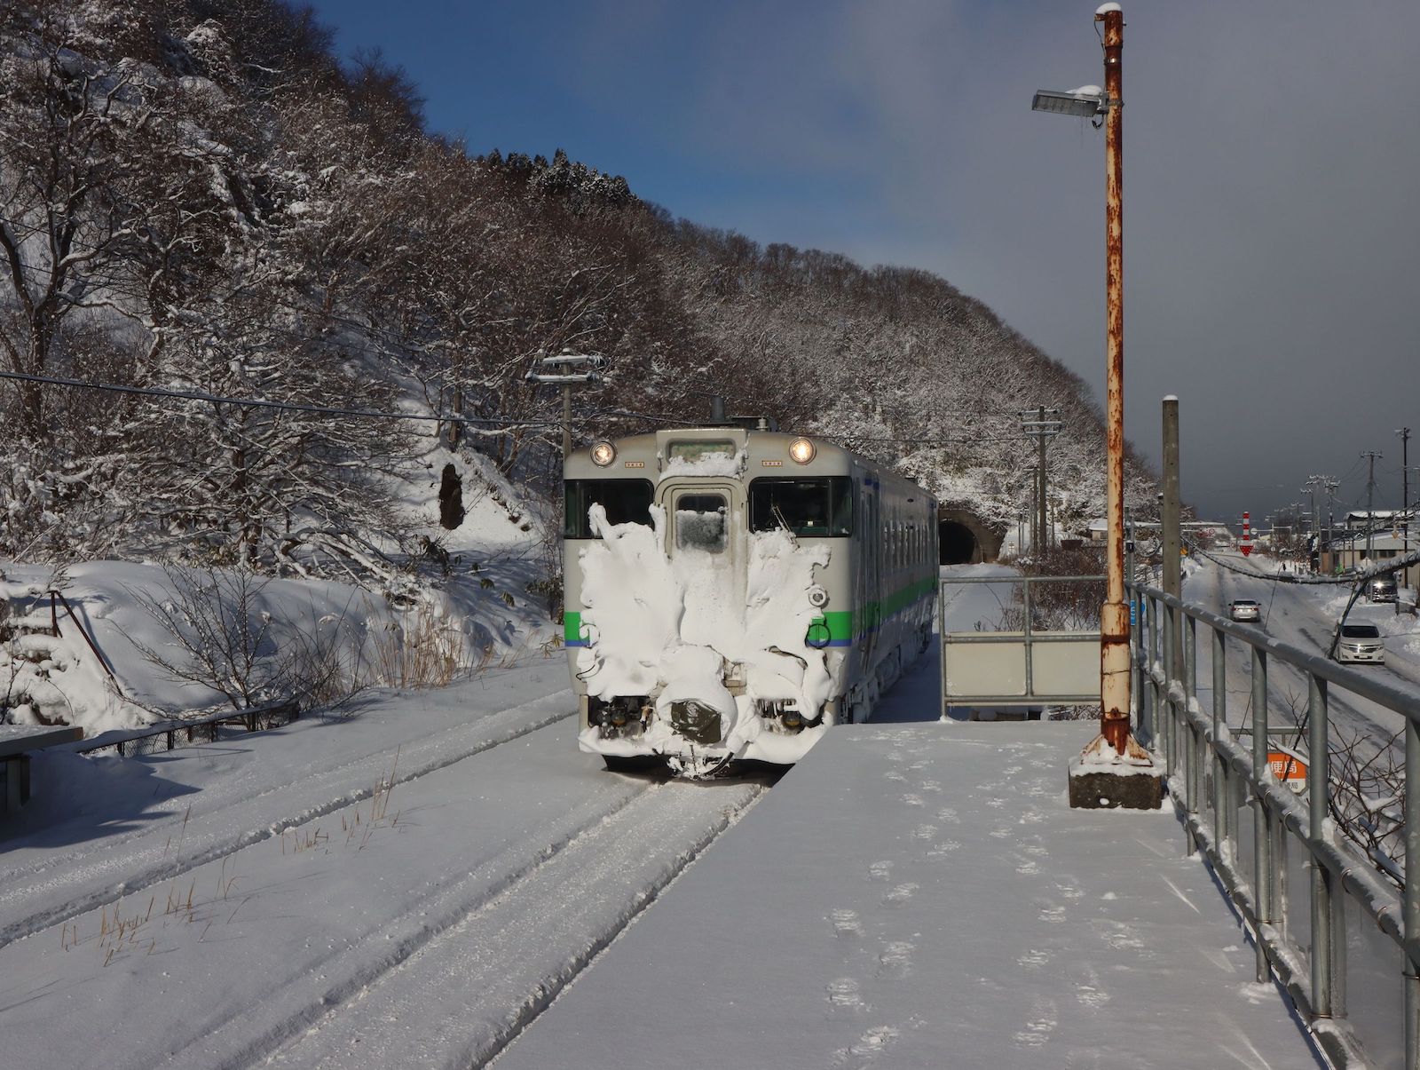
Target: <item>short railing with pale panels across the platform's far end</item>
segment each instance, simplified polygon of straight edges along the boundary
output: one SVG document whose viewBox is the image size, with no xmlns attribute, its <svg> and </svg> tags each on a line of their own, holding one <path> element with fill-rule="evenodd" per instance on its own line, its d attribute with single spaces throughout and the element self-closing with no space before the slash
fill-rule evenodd
<svg viewBox="0 0 1420 1070">
<path fill-rule="evenodd" d="M 941 712 L 950 706 L 1045 706 L 1099 702 L 1099 629 L 1051 631 L 1032 627 L 1032 587 L 1042 584 L 1099 584 L 1092 601 L 1103 600 L 1103 575 L 968 575 L 941 580 L 937 632 L 941 635 Z M 947 588 L 957 585 L 1021 588 L 1020 631 L 947 631 Z M 954 662 L 970 648 L 971 656 Z"/>
</svg>

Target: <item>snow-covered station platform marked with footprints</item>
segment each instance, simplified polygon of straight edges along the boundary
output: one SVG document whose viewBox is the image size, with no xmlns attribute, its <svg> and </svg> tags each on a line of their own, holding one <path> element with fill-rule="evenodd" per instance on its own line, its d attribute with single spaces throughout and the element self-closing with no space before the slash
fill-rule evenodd
<svg viewBox="0 0 1420 1070">
<path fill-rule="evenodd" d="M 1092 733 L 829 732 L 498 1070 L 1321 1066 L 1167 803 L 1069 809 Z"/>
</svg>

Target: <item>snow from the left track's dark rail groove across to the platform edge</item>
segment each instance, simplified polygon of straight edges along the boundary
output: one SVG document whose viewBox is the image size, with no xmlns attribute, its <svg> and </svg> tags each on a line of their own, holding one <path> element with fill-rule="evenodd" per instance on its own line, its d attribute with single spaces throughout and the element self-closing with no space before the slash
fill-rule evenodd
<svg viewBox="0 0 1420 1070">
<path fill-rule="evenodd" d="M 398 1003 L 423 978 L 473 966 L 477 988 L 452 998 L 480 1032 L 436 1057 L 440 1025 L 419 1047 L 435 1061 L 497 1050 L 764 790 L 605 773 L 577 755 L 568 709 L 565 692 L 525 703 L 508 710 L 521 730 L 504 719 L 496 745 L 396 774 L 390 791 L 277 821 L 207 861 L 186 855 L 179 874 L 142 891 L 131 881 L 118 895 L 101 880 L 112 899 L 88 909 L 71 899 L 44 928 L 40 912 L 24 915 L 30 935 L 0 948 L 7 1057 L 84 1066 L 102 1052 L 116 1067 L 237 1067 L 281 1053 L 307 1064 L 364 1029 L 413 1022 L 371 1017 L 375 996 Z M 496 720 L 471 720 L 470 737 Z M 160 847 L 166 831 L 155 836 Z M 64 875 L 50 874 L 60 888 Z M 68 1015 L 75 1007 L 84 1013 Z"/>
</svg>

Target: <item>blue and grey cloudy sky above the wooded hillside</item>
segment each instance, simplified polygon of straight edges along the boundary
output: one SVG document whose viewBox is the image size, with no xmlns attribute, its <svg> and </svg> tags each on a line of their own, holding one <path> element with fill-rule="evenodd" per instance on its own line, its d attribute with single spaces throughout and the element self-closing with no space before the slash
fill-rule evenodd
<svg viewBox="0 0 1420 1070">
<path fill-rule="evenodd" d="M 1102 396 L 1100 135 L 1030 111 L 1102 81 L 1089 3 L 317 10 L 473 152 L 565 148 L 699 223 L 937 271 Z M 1322 472 L 1363 502 L 1363 449 L 1394 504 L 1392 431 L 1420 431 L 1420 4 L 1125 14 L 1126 433 L 1157 458 L 1177 394 L 1184 496 L 1213 513 L 1264 514 Z"/>
</svg>

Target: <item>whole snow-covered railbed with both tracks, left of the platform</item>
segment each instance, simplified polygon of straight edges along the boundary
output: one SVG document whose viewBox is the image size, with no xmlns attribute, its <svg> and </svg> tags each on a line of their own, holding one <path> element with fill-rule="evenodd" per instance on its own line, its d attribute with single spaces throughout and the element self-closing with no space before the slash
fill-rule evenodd
<svg viewBox="0 0 1420 1070">
<path fill-rule="evenodd" d="M 491 1057 L 764 791 L 605 773 L 555 669 L 102 760 L 114 836 L 77 806 L 7 843 L 16 1064 Z"/>
</svg>

